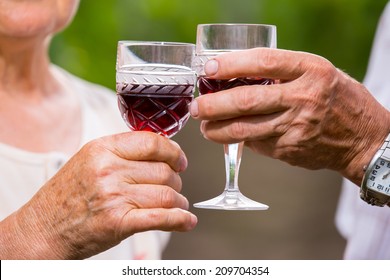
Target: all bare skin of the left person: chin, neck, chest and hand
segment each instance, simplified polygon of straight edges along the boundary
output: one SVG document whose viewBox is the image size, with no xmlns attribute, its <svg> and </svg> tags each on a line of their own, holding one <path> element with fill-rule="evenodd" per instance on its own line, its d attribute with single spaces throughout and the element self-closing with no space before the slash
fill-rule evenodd
<svg viewBox="0 0 390 280">
<path fill-rule="evenodd" d="M 80 149 L 80 99 L 53 74 L 48 55 L 51 38 L 78 5 L 0 0 L 0 142 L 73 155 L 0 222 L 0 259 L 82 259 L 137 232 L 189 231 L 197 223 L 179 193 L 187 159 L 175 142 L 129 132 Z"/>
</svg>

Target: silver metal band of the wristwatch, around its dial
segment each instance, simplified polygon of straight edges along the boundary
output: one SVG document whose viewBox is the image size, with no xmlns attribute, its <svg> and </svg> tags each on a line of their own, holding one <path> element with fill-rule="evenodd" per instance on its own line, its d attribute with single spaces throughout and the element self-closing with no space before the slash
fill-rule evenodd
<svg viewBox="0 0 390 280">
<path fill-rule="evenodd" d="M 375 153 L 375 156 L 371 160 L 371 163 L 376 162 L 379 158 L 383 158 L 386 161 L 390 161 L 390 133 L 387 135 L 381 148 Z M 365 171 L 364 177 L 366 177 L 368 175 L 367 166 L 364 167 L 364 171 Z M 369 189 L 366 185 L 365 178 L 363 178 L 363 183 L 360 187 L 360 198 L 371 205 L 375 205 L 375 206 L 387 205 L 390 207 L 390 196 L 386 196 L 384 194 L 378 195 L 377 192 Z"/>
</svg>

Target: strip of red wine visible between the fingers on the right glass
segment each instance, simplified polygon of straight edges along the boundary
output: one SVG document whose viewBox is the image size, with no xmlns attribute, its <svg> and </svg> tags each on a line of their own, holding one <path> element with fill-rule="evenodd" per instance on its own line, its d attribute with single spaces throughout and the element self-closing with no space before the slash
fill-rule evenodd
<svg viewBox="0 0 390 280">
<path fill-rule="evenodd" d="M 207 94 L 239 86 L 270 85 L 273 83 L 273 80 L 264 78 L 234 78 L 230 80 L 217 80 L 199 77 L 198 89 L 200 94 Z"/>
</svg>

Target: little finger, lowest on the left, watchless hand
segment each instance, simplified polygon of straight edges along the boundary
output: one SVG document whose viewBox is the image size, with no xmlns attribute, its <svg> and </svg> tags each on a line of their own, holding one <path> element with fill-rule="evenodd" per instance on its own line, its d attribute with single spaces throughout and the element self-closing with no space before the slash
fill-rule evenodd
<svg viewBox="0 0 390 280">
<path fill-rule="evenodd" d="M 128 235 L 148 230 L 190 231 L 198 219 L 186 210 L 174 209 L 134 209 L 125 216 L 124 227 Z"/>
</svg>

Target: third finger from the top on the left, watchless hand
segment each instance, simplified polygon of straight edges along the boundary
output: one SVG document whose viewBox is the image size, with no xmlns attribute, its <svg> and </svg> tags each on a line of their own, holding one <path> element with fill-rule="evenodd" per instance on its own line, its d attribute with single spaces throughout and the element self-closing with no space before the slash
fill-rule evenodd
<svg viewBox="0 0 390 280">
<path fill-rule="evenodd" d="M 138 209 L 181 208 L 188 209 L 189 203 L 180 193 L 161 185 L 124 185 L 120 195 L 125 203 Z"/>
</svg>

